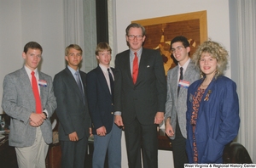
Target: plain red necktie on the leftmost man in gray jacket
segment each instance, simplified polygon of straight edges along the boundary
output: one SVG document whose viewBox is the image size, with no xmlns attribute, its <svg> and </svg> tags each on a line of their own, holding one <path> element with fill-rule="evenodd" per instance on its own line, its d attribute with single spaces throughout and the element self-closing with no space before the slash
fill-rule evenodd
<svg viewBox="0 0 256 168">
<path fill-rule="evenodd" d="M 42 113 L 42 104 L 41 104 L 41 98 L 38 91 L 38 81 L 34 76 L 35 75 L 34 71 L 31 72 L 31 75 L 32 75 L 32 90 L 36 100 L 36 113 L 40 114 Z"/>
</svg>

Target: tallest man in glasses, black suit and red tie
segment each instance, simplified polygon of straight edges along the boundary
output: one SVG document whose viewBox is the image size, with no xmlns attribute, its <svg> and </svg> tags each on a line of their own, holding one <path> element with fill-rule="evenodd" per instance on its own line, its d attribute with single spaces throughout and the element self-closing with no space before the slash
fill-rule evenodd
<svg viewBox="0 0 256 168">
<path fill-rule="evenodd" d="M 131 168 L 158 167 L 157 126 L 164 120 L 166 76 L 160 53 L 143 48 L 145 28 L 126 28 L 130 49 L 116 55 L 114 122 L 125 126 L 128 164 Z"/>
</svg>

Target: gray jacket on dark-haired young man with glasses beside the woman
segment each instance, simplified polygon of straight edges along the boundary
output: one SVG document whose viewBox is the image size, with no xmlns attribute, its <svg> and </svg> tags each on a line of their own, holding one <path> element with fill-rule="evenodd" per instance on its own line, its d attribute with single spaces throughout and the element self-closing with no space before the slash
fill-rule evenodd
<svg viewBox="0 0 256 168">
<path fill-rule="evenodd" d="M 171 117 L 171 125 L 176 132 L 176 122 L 178 120 L 180 131 L 183 137 L 187 138 L 186 131 L 186 111 L 187 111 L 187 94 L 188 88 L 181 87 L 177 98 L 177 73 L 178 66 L 169 70 L 167 73 L 167 98 L 166 98 L 166 118 Z M 195 65 L 190 60 L 187 70 L 183 75 L 184 81 L 189 81 L 191 85 L 199 79 L 199 72 L 195 70 Z M 171 139 L 175 138 L 175 134 Z"/>
</svg>

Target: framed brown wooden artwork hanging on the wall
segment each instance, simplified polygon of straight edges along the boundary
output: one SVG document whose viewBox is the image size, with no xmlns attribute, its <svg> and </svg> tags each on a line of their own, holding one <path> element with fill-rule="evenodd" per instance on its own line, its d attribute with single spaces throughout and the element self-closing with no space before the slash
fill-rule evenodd
<svg viewBox="0 0 256 168">
<path fill-rule="evenodd" d="M 144 48 L 160 50 L 165 71 L 177 65 L 170 52 L 170 44 L 175 36 L 186 36 L 190 43 L 189 56 L 195 53 L 201 42 L 207 40 L 207 11 L 199 11 L 187 14 L 176 14 L 146 20 L 134 20 L 146 29 Z"/>
</svg>

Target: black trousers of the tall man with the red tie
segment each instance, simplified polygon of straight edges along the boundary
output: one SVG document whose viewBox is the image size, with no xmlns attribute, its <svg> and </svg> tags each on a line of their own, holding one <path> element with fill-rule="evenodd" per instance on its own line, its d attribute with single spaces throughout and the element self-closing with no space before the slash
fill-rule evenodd
<svg viewBox="0 0 256 168">
<path fill-rule="evenodd" d="M 130 168 L 158 167 L 157 125 L 142 125 L 138 120 L 125 124 L 125 143 Z"/>
</svg>

